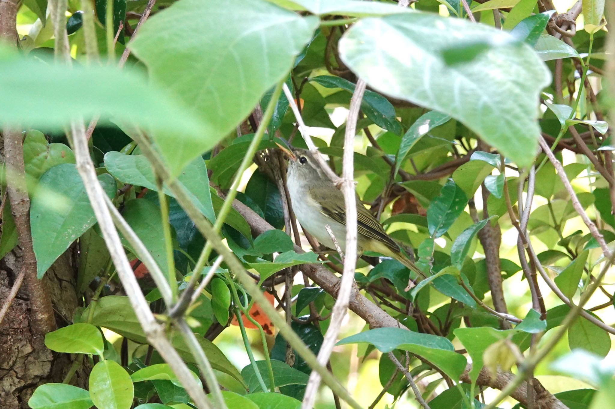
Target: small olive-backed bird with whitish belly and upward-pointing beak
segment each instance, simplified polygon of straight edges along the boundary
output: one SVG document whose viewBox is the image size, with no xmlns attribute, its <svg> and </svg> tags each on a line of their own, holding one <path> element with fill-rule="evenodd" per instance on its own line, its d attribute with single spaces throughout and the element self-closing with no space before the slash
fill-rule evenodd
<svg viewBox="0 0 615 409">
<path fill-rule="evenodd" d="M 278 146 L 289 158 L 287 186 L 297 220 L 321 244 L 335 248 L 335 243 L 325 228 L 328 224 L 339 247 L 346 248 L 346 207 L 343 193 L 331 182 L 311 151 L 299 148 L 288 150 L 282 145 Z M 365 250 L 394 258 L 419 277 L 425 278 L 424 273 L 402 253 L 357 197 L 357 251 Z"/>
</svg>

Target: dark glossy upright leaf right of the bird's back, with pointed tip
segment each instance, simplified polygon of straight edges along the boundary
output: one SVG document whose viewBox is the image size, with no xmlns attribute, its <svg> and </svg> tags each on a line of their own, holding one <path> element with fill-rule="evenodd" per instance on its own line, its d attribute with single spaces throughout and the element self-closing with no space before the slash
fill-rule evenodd
<svg viewBox="0 0 615 409">
<path fill-rule="evenodd" d="M 457 186 L 453 180 L 448 180 L 442 186 L 440 196 L 436 197 L 427 208 L 427 225 L 429 234 L 434 239 L 445 234 L 451 224 L 466 207 L 467 197 L 464 191 Z"/>
</svg>

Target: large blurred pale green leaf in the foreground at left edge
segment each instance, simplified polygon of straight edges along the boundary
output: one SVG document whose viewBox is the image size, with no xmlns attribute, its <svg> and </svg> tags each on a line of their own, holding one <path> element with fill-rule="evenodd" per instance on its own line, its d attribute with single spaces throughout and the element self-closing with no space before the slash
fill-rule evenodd
<svg viewBox="0 0 615 409">
<path fill-rule="evenodd" d="M 63 131 L 74 118 L 87 121 L 102 112 L 103 118 L 113 117 L 114 121 L 134 123 L 143 129 L 172 133 L 168 137 L 175 143 L 178 134 L 184 139 L 208 134 L 208 127 L 177 99 L 156 85 L 148 85 L 143 74 L 127 67 L 67 67 L 44 64 L 34 58 L 5 57 L 0 58 L 0 71 L 0 111 L 2 121 L 8 123 Z M 67 87 L 68 83 L 71 86 Z"/>
</svg>

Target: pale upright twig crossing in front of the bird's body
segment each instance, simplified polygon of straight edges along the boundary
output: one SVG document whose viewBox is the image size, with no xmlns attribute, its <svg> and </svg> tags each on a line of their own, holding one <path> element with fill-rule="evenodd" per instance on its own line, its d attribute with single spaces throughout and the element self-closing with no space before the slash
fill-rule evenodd
<svg viewBox="0 0 615 409">
<path fill-rule="evenodd" d="M 357 82 L 352 94 L 348 118 L 346 120 L 346 132 L 344 133 L 344 158 L 341 189 L 346 204 L 346 258 L 344 259 L 344 272 L 339 285 L 338 299 L 333 305 L 331 323 L 325 333 L 325 338 L 320 346 L 318 362 L 326 365 L 335 345 L 341 323 L 348 310 L 348 303 L 354 283 L 354 270 L 357 264 L 357 199 L 354 189 L 354 137 L 357 129 L 359 109 L 367 84 L 363 80 Z M 301 403 L 302 409 L 311 409 L 316 399 L 316 392 L 320 384 L 319 373 L 312 371 L 309 377 L 306 393 Z"/>
</svg>

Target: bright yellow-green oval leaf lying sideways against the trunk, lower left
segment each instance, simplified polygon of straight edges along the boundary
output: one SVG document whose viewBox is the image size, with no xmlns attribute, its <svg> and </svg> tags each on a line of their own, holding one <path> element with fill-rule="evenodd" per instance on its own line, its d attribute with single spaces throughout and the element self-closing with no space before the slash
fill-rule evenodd
<svg viewBox="0 0 615 409">
<path fill-rule="evenodd" d="M 67 354 L 98 354 L 103 356 L 103 335 L 92 324 L 79 323 L 57 329 L 45 335 L 45 346 Z"/>
</svg>

